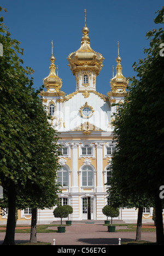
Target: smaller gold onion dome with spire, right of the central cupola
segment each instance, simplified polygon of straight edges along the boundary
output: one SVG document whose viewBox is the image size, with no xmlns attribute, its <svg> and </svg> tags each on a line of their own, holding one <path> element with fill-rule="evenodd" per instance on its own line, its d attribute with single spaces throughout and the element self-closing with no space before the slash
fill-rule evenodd
<svg viewBox="0 0 164 256">
<path fill-rule="evenodd" d="M 122 75 L 122 67 L 121 67 L 121 57 L 119 55 L 119 42 L 118 42 L 118 57 L 116 57 L 116 75 L 110 80 L 111 90 L 113 92 L 123 91 L 126 92 L 126 87 L 128 85 L 128 80 Z M 121 92 L 120 91 L 120 92 Z"/>
</svg>

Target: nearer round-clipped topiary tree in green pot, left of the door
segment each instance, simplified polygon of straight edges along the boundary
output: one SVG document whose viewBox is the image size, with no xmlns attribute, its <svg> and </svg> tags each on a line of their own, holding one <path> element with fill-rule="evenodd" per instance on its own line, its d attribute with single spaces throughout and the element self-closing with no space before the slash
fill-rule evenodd
<svg viewBox="0 0 164 256">
<path fill-rule="evenodd" d="M 58 205 L 55 208 L 53 213 L 54 213 L 54 216 L 56 218 L 61 218 L 61 225 L 57 227 L 57 231 L 59 233 L 65 232 L 66 227 L 62 226 L 62 218 L 67 218 L 68 217 L 68 214 L 69 214 L 68 208 L 65 207 L 65 206 L 62 206 L 62 205 Z"/>
</svg>

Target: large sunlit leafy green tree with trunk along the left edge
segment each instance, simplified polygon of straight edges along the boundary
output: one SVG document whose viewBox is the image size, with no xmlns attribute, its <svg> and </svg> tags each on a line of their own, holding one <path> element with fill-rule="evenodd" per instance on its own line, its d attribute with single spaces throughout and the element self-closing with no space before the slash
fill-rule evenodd
<svg viewBox="0 0 164 256">
<path fill-rule="evenodd" d="M 35 92 L 32 88 L 32 69 L 22 67 L 20 43 L 10 38 L 3 23 L 0 32 L 3 44 L 0 63 L 0 180 L 8 198 L 7 231 L 3 244 L 14 245 L 18 195 L 31 196 L 33 208 L 36 208 L 37 205 L 40 207 L 41 201 L 43 207 L 51 205 L 40 193 L 44 188 L 49 190 L 48 196 L 56 194 L 57 133 L 50 126 L 38 97 L 42 89 Z"/>
</svg>

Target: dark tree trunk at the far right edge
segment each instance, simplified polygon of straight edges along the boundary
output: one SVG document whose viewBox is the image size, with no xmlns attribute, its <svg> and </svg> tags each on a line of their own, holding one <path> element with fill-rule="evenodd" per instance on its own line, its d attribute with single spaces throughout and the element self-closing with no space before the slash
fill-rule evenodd
<svg viewBox="0 0 164 256">
<path fill-rule="evenodd" d="M 162 200 L 159 193 L 155 196 L 155 217 L 156 217 L 156 242 L 164 245 L 163 219 L 162 219 Z"/>
</svg>

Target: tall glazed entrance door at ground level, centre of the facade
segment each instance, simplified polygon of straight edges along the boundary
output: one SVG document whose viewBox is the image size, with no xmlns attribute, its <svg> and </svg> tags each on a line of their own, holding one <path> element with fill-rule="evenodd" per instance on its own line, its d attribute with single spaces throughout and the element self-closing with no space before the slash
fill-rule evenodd
<svg viewBox="0 0 164 256">
<path fill-rule="evenodd" d="M 93 199 L 92 197 L 83 198 L 83 219 L 93 219 Z"/>
</svg>

